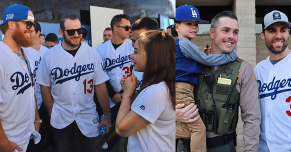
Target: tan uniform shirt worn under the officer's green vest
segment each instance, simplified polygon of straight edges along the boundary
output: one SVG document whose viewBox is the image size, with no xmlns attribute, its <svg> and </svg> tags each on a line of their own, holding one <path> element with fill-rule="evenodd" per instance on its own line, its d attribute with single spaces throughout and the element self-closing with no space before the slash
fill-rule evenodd
<svg viewBox="0 0 291 152">
<path fill-rule="evenodd" d="M 214 70 L 215 71 L 215 70 Z M 244 151 L 257 151 L 260 135 L 260 101 L 258 98 L 258 86 L 255 81 L 253 67 L 242 61 L 238 75 L 240 76 L 236 83 L 237 91 L 240 93 L 239 106 L 241 108 L 241 117 L 244 122 Z M 206 132 L 206 138 L 221 136 L 214 132 Z"/>
</svg>

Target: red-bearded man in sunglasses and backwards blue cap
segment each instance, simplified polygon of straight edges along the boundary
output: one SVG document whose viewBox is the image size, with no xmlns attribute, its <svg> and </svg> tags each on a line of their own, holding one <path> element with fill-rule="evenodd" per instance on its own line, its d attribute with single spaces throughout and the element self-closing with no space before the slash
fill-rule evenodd
<svg viewBox="0 0 291 152">
<path fill-rule="evenodd" d="M 3 13 L 0 42 L 0 151 L 26 151 L 40 134 L 35 99 L 35 70 L 21 47 L 32 45 L 34 16 L 29 7 L 10 5 Z"/>
</svg>

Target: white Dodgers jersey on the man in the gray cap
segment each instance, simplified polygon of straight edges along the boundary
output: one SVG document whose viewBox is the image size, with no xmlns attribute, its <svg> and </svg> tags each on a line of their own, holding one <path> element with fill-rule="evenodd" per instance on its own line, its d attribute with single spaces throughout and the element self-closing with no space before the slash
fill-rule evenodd
<svg viewBox="0 0 291 152">
<path fill-rule="evenodd" d="M 258 152 L 291 151 L 291 53 L 272 65 L 270 56 L 255 66 L 262 122 Z"/>
</svg>

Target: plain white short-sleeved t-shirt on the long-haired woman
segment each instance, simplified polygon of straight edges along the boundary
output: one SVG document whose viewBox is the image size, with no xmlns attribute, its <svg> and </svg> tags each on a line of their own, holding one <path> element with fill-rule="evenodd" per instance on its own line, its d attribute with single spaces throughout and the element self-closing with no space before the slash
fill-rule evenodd
<svg viewBox="0 0 291 152">
<path fill-rule="evenodd" d="M 165 82 L 143 89 L 132 103 L 131 110 L 150 124 L 129 136 L 128 152 L 175 151 L 175 110 Z"/>
</svg>

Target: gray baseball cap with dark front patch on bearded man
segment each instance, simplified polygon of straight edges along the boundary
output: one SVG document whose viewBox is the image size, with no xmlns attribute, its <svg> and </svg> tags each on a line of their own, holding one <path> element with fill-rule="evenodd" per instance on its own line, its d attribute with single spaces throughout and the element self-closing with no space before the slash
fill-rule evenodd
<svg viewBox="0 0 291 152">
<path fill-rule="evenodd" d="M 265 30 L 268 26 L 277 22 L 283 22 L 287 24 L 288 28 L 291 27 L 291 23 L 289 23 L 288 17 L 284 13 L 278 10 L 274 10 L 265 15 L 263 23 L 262 23 L 262 28 L 263 30 Z"/>
</svg>

